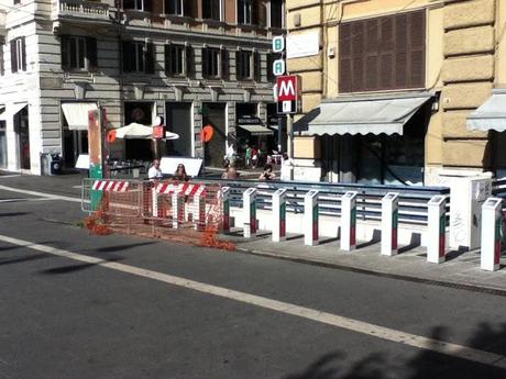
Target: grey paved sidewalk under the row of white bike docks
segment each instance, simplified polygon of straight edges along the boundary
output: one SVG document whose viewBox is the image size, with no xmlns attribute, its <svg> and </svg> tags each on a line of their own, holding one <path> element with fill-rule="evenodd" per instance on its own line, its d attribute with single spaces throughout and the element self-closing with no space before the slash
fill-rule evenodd
<svg viewBox="0 0 506 379">
<path fill-rule="evenodd" d="M 359 242 L 359 248 L 348 253 L 339 249 L 338 238 L 305 246 L 301 235 L 274 243 L 270 232 L 260 232 L 257 237 L 248 239 L 242 237 L 242 230 L 232 231 L 226 238 L 234 241 L 238 250 L 250 254 L 506 296 L 504 255 L 502 269 L 491 272 L 480 268 L 480 250 L 449 252 L 447 261 L 438 265 L 427 263 L 427 249 L 420 246 L 400 246 L 397 256 L 387 257 L 380 254 L 380 242 Z"/>
</svg>

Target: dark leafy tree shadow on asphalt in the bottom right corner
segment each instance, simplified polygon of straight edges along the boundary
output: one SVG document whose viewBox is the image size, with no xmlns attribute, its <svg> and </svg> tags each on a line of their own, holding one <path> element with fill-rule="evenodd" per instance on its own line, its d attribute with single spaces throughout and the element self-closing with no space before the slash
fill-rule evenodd
<svg viewBox="0 0 506 379">
<path fill-rule="evenodd" d="M 284 379 L 499 379 L 506 378 L 506 323 L 493 327 L 487 323 L 476 326 L 473 335 L 462 344 L 470 352 L 453 352 L 453 355 L 439 353 L 440 342 L 451 341 L 450 330 L 436 326 L 431 330 L 431 344 L 427 349 L 405 361 L 386 353 L 372 353 L 354 363 L 345 361 L 344 352 L 332 352 L 318 358 L 298 374 Z M 411 347 L 407 347 L 411 349 Z M 415 348 L 413 348 L 415 349 Z M 496 356 L 494 356 L 496 355 Z"/>
</svg>

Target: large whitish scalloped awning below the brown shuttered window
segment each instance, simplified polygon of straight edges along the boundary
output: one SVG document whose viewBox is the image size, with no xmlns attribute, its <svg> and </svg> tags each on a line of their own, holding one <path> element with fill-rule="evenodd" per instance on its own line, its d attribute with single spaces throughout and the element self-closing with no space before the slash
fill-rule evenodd
<svg viewBox="0 0 506 379">
<path fill-rule="evenodd" d="M 302 118 L 295 131 L 304 135 L 399 134 L 403 126 L 432 96 L 353 96 L 322 102 Z M 306 119 L 306 120 L 304 120 Z"/>
</svg>

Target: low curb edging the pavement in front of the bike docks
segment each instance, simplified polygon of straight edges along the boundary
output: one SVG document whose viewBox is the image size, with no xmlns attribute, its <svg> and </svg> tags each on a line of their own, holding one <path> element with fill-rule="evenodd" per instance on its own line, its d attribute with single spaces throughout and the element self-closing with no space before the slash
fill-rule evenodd
<svg viewBox="0 0 506 379">
<path fill-rule="evenodd" d="M 506 297 L 506 290 L 495 288 L 495 287 L 466 285 L 466 283 L 462 283 L 459 281 L 451 281 L 451 280 L 444 281 L 444 280 L 419 278 L 419 277 L 414 277 L 414 276 L 408 276 L 408 275 L 375 271 L 375 270 L 369 270 L 369 269 L 353 267 L 353 266 L 331 264 L 327 261 L 314 260 L 314 259 L 307 259 L 307 258 L 300 258 L 300 257 L 293 257 L 293 256 L 288 256 L 288 255 L 284 255 L 279 253 L 256 250 L 256 249 L 251 249 L 251 248 L 245 248 L 245 247 L 238 247 L 237 250 L 238 253 L 241 253 L 241 254 L 249 254 L 249 255 L 261 256 L 261 257 L 270 257 L 270 258 L 279 259 L 279 260 L 288 260 L 288 261 L 294 261 L 298 264 L 305 264 L 305 265 L 331 268 L 331 269 L 337 269 L 337 270 L 342 270 L 342 271 L 370 275 L 374 277 L 382 277 L 382 278 L 388 278 L 388 279 L 424 283 L 424 285 L 429 285 L 429 286 L 446 287 L 446 288 L 460 289 L 460 290 L 472 291 L 472 292 Z"/>
</svg>

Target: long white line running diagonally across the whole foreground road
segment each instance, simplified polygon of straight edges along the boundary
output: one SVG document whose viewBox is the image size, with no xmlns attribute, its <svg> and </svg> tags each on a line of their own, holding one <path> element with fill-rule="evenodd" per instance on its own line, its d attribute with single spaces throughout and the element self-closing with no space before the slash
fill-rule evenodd
<svg viewBox="0 0 506 379">
<path fill-rule="evenodd" d="M 223 287 L 212 286 L 182 277 L 172 276 L 168 274 L 157 272 L 135 266 L 124 265 L 120 263 L 106 261 L 100 258 L 90 257 L 82 254 L 72 253 L 61 248 L 40 245 L 30 241 L 12 238 L 6 235 L 0 235 L 0 241 L 8 244 L 24 246 L 37 252 L 43 252 L 59 257 L 65 257 L 87 264 L 106 267 L 121 272 L 131 274 L 138 277 L 143 277 L 152 280 L 162 281 L 172 286 L 177 286 L 186 289 L 191 289 L 198 292 L 212 294 L 216 297 L 234 300 L 241 303 L 256 305 L 260 308 L 273 310 L 279 313 L 290 314 L 294 316 L 307 319 L 327 325 L 332 325 L 340 328 L 345 328 L 352 332 L 365 334 L 369 336 L 382 338 L 385 341 L 417 347 L 430 352 L 450 355 L 457 358 L 475 361 L 483 365 L 494 366 L 506 369 L 506 356 L 474 349 L 471 347 L 450 344 L 443 341 L 432 339 L 425 336 L 396 331 L 389 327 L 384 327 L 367 322 L 340 316 L 328 312 L 321 312 L 316 309 L 299 306 L 296 304 L 277 301 L 246 292 L 235 291 Z"/>
</svg>

